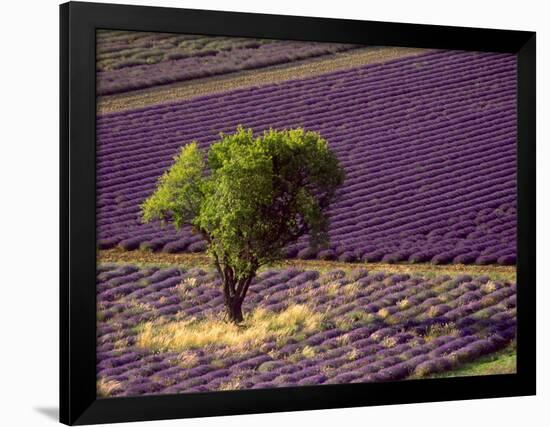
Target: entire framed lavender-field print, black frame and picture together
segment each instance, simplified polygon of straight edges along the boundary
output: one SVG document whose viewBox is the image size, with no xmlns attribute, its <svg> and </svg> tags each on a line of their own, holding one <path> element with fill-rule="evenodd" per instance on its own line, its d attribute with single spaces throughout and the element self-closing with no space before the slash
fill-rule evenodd
<svg viewBox="0 0 550 427">
<path fill-rule="evenodd" d="M 70 2 L 66 424 L 535 393 L 535 34 Z"/>
</svg>

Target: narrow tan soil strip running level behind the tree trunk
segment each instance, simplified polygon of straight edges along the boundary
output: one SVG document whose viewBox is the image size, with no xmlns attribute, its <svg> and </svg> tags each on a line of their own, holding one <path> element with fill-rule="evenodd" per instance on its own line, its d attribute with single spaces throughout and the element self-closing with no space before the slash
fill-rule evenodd
<svg viewBox="0 0 550 427">
<path fill-rule="evenodd" d="M 179 253 L 168 254 L 163 252 L 126 251 L 124 249 L 108 249 L 98 252 L 97 262 L 138 265 L 181 265 L 186 267 L 206 267 L 210 264 L 209 257 L 204 253 Z M 501 265 L 464 265 L 464 264 L 385 264 L 371 263 L 346 263 L 338 261 L 319 260 L 285 260 L 273 267 L 300 268 L 307 270 L 350 270 L 364 267 L 369 271 L 383 271 L 385 273 L 406 273 L 422 276 L 439 276 L 448 274 L 457 276 L 469 274 L 473 276 L 488 276 L 492 280 L 505 280 L 516 282 L 516 267 Z"/>
</svg>

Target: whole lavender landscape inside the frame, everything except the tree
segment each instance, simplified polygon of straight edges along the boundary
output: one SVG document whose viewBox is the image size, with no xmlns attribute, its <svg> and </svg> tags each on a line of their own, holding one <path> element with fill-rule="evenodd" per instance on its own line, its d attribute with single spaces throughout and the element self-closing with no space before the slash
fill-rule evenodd
<svg viewBox="0 0 550 427">
<path fill-rule="evenodd" d="M 395 49 L 97 33 L 99 397 L 515 371 L 516 57 Z M 231 322 L 208 236 L 143 203 L 238 126 L 318 132 L 345 179 Z"/>
</svg>

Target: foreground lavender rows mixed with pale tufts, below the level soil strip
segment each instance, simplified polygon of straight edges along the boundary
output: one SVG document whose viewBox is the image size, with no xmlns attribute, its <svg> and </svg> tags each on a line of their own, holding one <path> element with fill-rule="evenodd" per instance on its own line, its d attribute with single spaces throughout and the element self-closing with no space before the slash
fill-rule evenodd
<svg viewBox="0 0 550 427">
<path fill-rule="evenodd" d="M 195 285 L 179 292 L 188 278 Z M 113 396 L 424 377 L 497 351 L 516 333 L 515 284 L 362 269 L 322 275 L 271 270 L 251 287 L 246 310 L 308 304 L 327 316 L 319 330 L 282 343 L 266 340 L 245 352 L 158 353 L 136 345 L 135 326 L 222 311 L 214 274 L 103 265 L 97 293 L 98 380 Z"/>
</svg>

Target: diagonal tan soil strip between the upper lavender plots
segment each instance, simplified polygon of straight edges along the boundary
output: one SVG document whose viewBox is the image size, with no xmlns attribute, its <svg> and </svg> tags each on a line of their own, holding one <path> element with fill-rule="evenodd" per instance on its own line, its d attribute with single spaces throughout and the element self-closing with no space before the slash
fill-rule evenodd
<svg viewBox="0 0 550 427">
<path fill-rule="evenodd" d="M 262 86 L 291 79 L 305 78 L 366 64 L 380 63 L 420 55 L 427 49 L 406 47 L 370 47 L 309 59 L 290 64 L 248 70 L 221 76 L 184 81 L 171 85 L 97 98 L 97 113 L 113 113 L 154 104 L 181 101 L 196 96 L 228 90 Z"/>
</svg>

